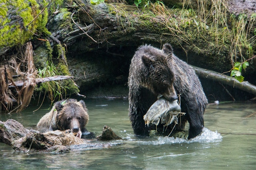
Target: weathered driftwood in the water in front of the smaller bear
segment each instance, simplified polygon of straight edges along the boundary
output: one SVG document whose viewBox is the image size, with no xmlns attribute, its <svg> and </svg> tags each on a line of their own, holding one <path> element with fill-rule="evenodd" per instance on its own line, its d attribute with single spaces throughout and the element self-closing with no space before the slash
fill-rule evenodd
<svg viewBox="0 0 256 170">
<path fill-rule="evenodd" d="M 107 127 L 107 128 L 105 128 Z M 121 139 L 111 128 L 104 126 L 102 135 L 104 140 Z M 108 133 L 106 133 L 108 129 Z M 109 136 L 108 136 L 109 135 Z M 107 148 L 111 144 L 90 143 L 90 140 L 78 138 L 66 131 L 50 131 L 40 133 L 37 130 L 28 130 L 16 120 L 0 121 L 0 142 L 12 146 L 20 152 L 70 152 L 77 149 Z"/>
</svg>

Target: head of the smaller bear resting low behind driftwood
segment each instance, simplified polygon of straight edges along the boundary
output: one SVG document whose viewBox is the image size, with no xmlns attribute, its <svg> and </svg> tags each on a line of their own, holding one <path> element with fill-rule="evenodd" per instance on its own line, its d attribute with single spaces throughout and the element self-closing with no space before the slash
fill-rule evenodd
<svg viewBox="0 0 256 170">
<path fill-rule="evenodd" d="M 88 110 L 83 100 L 62 100 L 55 103 L 57 110 L 56 126 L 58 130 L 68 130 L 77 133 L 85 130 L 88 123 Z"/>
</svg>

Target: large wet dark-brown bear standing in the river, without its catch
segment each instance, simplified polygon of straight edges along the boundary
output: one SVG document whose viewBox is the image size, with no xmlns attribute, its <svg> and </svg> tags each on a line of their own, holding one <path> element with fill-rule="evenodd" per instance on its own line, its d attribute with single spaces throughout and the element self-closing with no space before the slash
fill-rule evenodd
<svg viewBox="0 0 256 170">
<path fill-rule="evenodd" d="M 175 130 L 182 130 L 189 122 L 188 139 L 202 132 L 204 127 L 204 110 L 208 100 L 194 70 L 173 54 L 170 44 L 164 44 L 162 50 L 150 45 L 140 46 L 130 64 L 129 78 L 129 116 L 134 133 L 149 136 L 153 125 L 145 125 L 143 116 L 159 96 L 169 101 L 177 99 L 180 94 L 181 116 Z M 167 132 L 174 125 L 169 125 Z M 161 129 L 161 125 L 157 126 Z"/>
</svg>

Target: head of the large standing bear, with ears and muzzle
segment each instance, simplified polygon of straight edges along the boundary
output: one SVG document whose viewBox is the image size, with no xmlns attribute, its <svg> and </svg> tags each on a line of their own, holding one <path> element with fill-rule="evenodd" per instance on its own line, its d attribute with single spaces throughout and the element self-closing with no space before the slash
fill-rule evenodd
<svg viewBox="0 0 256 170">
<path fill-rule="evenodd" d="M 177 99 L 174 89 L 175 70 L 172 66 L 172 46 L 164 44 L 162 50 L 142 55 L 146 87 L 156 96 L 163 96 L 169 101 Z"/>
</svg>

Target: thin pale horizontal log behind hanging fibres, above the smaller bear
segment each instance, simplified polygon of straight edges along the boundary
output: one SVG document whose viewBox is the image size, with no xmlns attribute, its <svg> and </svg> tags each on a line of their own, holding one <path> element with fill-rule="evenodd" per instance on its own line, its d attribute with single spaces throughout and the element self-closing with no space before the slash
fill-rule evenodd
<svg viewBox="0 0 256 170">
<path fill-rule="evenodd" d="M 36 84 L 49 82 L 49 81 L 55 81 L 55 80 L 64 80 L 68 78 L 74 78 L 73 76 L 53 76 L 53 77 L 45 77 L 45 78 L 36 78 Z M 8 88 L 14 88 L 16 86 L 23 86 L 24 82 L 22 80 L 16 81 L 13 83 L 8 84 Z"/>
</svg>

